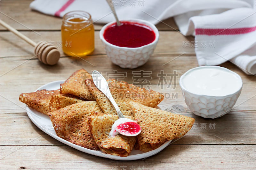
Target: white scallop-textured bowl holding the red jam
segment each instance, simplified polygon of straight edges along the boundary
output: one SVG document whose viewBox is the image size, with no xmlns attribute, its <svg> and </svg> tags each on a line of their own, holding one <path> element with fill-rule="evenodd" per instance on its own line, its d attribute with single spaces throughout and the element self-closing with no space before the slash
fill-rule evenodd
<svg viewBox="0 0 256 170">
<path fill-rule="evenodd" d="M 110 44 L 108 41 L 104 39 L 103 34 L 105 32 L 105 29 L 108 28 L 108 26 L 116 23 L 116 21 L 106 24 L 100 30 L 100 40 L 102 41 L 105 47 L 106 53 L 110 58 L 111 62 L 120 66 L 121 68 L 134 69 L 147 63 L 149 57 L 153 54 L 156 48 L 156 44 L 159 39 L 159 33 L 154 24 L 151 24 L 150 22 L 145 20 L 124 19 L 121 21 L 135 22 L 142 25 L 146 25 L 150 27 L 156 35 L 155 40 L 147 45 L 137 47 L 137 48 L 128 48 L 128 47 L 119 47 L 119 46 Z"/>
</svg>

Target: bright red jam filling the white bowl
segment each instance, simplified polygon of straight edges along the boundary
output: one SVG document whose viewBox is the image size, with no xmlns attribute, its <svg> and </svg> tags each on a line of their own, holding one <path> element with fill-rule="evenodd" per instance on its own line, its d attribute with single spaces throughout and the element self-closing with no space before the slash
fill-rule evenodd
<svg viewBox="0 0 256 170">
<path fill-rule="evenodd" d="M 136 48 L 150 44 L 156 39 L 154 31 L 146 25 L 122 21 L 108 26 L 103 33 L 104 39 L 119 47 Z"/>
</svg>

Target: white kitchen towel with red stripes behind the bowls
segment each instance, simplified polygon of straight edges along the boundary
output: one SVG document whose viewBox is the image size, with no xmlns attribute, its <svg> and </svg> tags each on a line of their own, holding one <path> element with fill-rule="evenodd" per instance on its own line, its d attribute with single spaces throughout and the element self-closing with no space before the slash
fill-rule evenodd
<svg viewBox="0 0 256 170">
<path fill-rule="evenodd" d="M 256 74 L 255 0 L 112 0 L 119 19 L 140 18 L 153 24 L 173 17 L 180 33 L 194 35 L 199 65 L 236 64 Z M 105 0 L 35 0 L 30 8 L 62 17 L 74 10 L 87 11 L 96 23 L 114 20 Z"/>
</svg>

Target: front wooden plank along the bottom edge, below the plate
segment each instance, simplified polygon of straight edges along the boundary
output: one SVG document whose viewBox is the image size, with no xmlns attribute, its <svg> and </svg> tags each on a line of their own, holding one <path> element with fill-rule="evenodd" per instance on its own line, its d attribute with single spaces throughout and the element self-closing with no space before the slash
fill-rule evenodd
<svg viewBox="0 0 256 170">
<path fill-rule="evenodd" d="M 255 149 L 256 145 L 171 145 L 144 160 L 117 161 L 68 146 L 0 146 L 0 156 L 5 156 L 3 169 L 255 169 Z"/>
</svg>

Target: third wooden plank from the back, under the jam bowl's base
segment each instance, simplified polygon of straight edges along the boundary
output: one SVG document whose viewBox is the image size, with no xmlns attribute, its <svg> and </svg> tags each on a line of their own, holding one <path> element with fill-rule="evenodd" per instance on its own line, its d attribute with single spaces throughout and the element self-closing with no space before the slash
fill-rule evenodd
<svg viewBox="0 0 256 170">
<path fill-rule="evenodd" d="M 149 71 L 148 73 L 150 73 L 150 76 L 148 77 L 148 80 L 151 84 L 161 83 L 159 82 L 159 78 L 162 70 L 164 74 L 172 74 L 173 78 L 176 73 L 177 75 L 175 77 L 177 79 L 175 82 L 173 79 L 171 83 L 178 84 L 180 76 L 187 70 L 197 67 L 198 64 L 195 56 L 182 55 L 178 58 L 176 57 L 177 55 L 154 54 L 145 65 L 132 70 L 122 69 L 111 63 L 106 55 L 91 55 L 84 57 L 84 60 L 75 57 L 62 57 L 60 58 L 59 63 L 54 66 L 45 65 L 37 59 L 29 60 L 31 56 L 4 57 L 0 58 L 0 68 L 2 68 L 0 70 L 0 75 L 3 75 L 0 85 L 43 85 L 51 81 L 67 79 L 71 73 L 81 68 L 84 68 L 89 72 L 92 70 L 99 70 L 104 76 L 106 76 L 107 73 L 113 75 L 120 74 L 114 73 L 114 70 L 117 70 L 118 72 L 125 72 L 127 77 L 125 77 L 124 80 L 128 83 L 137 82 L 135 78 L 132 79 L 136 73 L 134 71 L 142 70 L 141 74 L 147 73 L 144 71 Z M 93 65 L 87 63 L 85 60 Z M 163 66 L 165 63 L 167 64 Z M 220 66 L 238 73 L 242 77 L 244 84 L 250 83 L 255 85 L 256 77 L 246 75 L 234 64 L 227 62 Z M 110 77 L 106 76 L 106 78 Z M 169 83 L 171 77 L 169 76 L 167 78 L 167 83 Z M 252 90 L 255 90 L 255 86 L 252 86 Z"/>
</svg>

